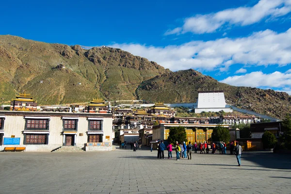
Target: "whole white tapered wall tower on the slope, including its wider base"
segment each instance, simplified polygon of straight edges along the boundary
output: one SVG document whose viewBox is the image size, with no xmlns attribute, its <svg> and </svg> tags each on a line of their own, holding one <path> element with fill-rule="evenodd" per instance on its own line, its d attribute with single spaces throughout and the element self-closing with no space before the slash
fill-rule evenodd
<svg viewBox="0 0 291 194">
<path fill-rule="evenodd" d="M 226 108 L 226 100 L 223 91 L 198 91 L 195 113 L 219 111 L 224 111 L 225 113 L 232 112 L 230 108 Z"/>
</svg>

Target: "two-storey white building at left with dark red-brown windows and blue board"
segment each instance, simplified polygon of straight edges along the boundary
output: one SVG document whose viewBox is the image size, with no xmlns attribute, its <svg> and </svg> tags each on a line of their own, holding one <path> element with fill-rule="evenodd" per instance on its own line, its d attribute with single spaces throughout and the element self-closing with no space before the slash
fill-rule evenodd
<svg viewBox="0 0 291 194">
<path fill-rule="evenodd" d="M 52 151 L 62 146 L 112 150 L 112 123 L 110 113 L 0 111 L 0 151 Z"/>
</svg>

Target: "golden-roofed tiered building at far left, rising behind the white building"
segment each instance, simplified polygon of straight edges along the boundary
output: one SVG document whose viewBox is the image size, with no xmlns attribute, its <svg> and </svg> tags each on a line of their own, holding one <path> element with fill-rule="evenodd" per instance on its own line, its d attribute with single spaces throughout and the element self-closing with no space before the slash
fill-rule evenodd
<svg viewBox="0 0 291 194">
<path fill-rule="evenodd" d="M 37 102 L 30 94 L 19 94 L 10 102 L 10 111 L 36 111 Z"/>
</svg>

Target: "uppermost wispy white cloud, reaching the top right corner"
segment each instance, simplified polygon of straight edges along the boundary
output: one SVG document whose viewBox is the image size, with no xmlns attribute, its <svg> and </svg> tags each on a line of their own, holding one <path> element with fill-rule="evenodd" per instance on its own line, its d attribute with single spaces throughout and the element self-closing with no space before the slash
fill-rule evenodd
<svg viewBox="0 0 291 194">
<path fill-rule="evenodd" d="M 257 23 L 264 18 L 276 18 L 290 12 L 291 0 L 259 0 L 253 7 L 238 7 L 217 13 L 188 17 L 184 20 L 182 27 L 168 30 L 165 35 L 186 32 L 211 33 L 227 23 L 246 26 Z"/>
</svg>

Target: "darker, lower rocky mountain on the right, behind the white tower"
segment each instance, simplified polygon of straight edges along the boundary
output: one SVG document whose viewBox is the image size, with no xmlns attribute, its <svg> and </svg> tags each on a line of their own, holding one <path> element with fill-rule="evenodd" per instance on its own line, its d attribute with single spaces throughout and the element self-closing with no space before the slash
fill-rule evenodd
<svg viewBox="0 0 291 194">
<path fill-rule="evenodd" d="M 291 96 L 285 92 L 236 87 L 218 82 L 193 69 L 167 72 L 144 81 L 137 89 L 139 98 L 163 102 L 196 102 L 199 90 L 223 90 L 226 103 L 275 118 L 291 112 Z"/>
</svg>

